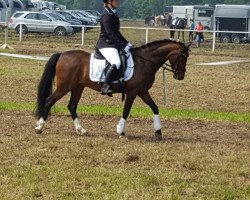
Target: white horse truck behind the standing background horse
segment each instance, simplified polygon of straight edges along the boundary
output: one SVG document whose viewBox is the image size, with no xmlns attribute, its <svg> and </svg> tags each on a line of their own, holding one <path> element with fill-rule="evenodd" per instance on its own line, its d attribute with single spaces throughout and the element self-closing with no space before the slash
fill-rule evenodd
<svg viewBox="0 0 250 200">
<path fill-rule="evenodd" d="M 172 7 L 172 8 L 171 8 Z M 171 13 L 172 17 L 187 19 L 187 27 L 190 27 L 190 20 L 193 19 L 195 24 L 201 22 L 206 30 L 213 28 L 214 8 L 208 5 L 191 5 L 191 6 L 166 6 L 165 13 Z"/>
</svg>

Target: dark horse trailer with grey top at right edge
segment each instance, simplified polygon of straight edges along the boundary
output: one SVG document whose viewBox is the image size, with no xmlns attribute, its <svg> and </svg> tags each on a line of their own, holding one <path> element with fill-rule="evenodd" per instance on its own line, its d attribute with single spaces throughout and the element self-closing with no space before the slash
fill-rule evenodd
<svg viewBox="0 0 250 200">
<path fill-rule="evenodd" d="M 215 29 L 217 31 L 232 31 L 218 33 L 217 37 L 223 43 L 250 42 L 250 5 L 216 5 Z"/>
</svg>

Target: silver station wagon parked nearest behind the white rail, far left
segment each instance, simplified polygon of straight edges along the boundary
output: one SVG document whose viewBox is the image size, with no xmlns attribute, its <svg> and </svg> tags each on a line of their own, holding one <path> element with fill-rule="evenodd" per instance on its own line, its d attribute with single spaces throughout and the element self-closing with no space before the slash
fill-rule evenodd
<svg viewBox="0 0 250 200">
<path fill-rule="evenodd" d="M 54 33 L 58 36 L 65 36 L 74 33 L 70 23 L 57 20 L 43 12 L 17 11 L 9 20 L 9 28 L 22 33 Z"/>
</svg>

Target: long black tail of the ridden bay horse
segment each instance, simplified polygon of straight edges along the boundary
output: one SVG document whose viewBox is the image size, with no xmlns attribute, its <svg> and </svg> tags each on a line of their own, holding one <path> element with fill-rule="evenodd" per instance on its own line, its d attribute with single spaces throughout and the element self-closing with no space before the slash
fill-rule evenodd
<svg viewBox="0 0 250 200">
<path fill-rule="evenodd" d="M 52 94 L 52 84 L 56 74 L 56 63 L 60 53 L 53 54 L 45 65 L 44 72 L 37 89 L 36 117 L 39 119 L 45 107 L 46 99 Z"/>
</svg>

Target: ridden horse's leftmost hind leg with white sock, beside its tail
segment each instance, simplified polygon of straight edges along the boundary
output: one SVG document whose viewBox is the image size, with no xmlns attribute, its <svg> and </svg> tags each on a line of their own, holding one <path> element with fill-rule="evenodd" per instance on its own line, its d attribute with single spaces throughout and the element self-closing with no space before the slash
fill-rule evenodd
<svg viewBox="0 0 250 200">
<path fill-rule="evenodd" d="M 36 122 L 36 128 L 35 130 L 37 133 L 42 133 L 42 129 L 45 125 L 45 121 L 48 118 L 49 111 L 51 107 L 59 100 L 61 99 L 67 92 L 60 92 L 58 90 L 55 90 L 55 92 L 49 96 L 46 100 L 45 107 L 43 109 L 43 114 L 41 115 L 40 119 Z"/>
</svg>

